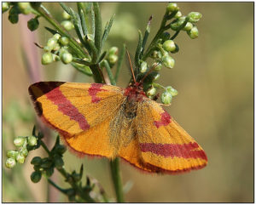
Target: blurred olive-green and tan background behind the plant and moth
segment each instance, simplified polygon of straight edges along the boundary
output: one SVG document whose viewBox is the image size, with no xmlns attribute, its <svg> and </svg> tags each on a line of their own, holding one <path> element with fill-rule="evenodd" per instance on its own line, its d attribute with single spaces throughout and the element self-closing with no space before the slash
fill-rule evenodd
<svg viewBox="0 0 256 205">
<path fill-rule="evenodd" d="M 57 3 L 44 3 L 61 20 Z M 70 4 L 72 5 L 72 3 Z M 108 44 L 126 43 L 131 54 L 137 46 L 137 29 L 144 31 L 153 14 L 150 37 L 154 37 L 167 3 L 101 3 L 103 25 L 114 13 L 115 21 Z M 191 40 L 178 35 L 180 51 L 173 54 L 176 65 L 160 71 L 160 83 L 177 88 L 179 94 L 167 110 L 207 152 L 206 168 L 181 175 L 143 174 L 121 163 L 123 182 L 132 185 L 127 202 L 253 202 L 253 3 L 178 3 L 183 14 L 198 11 L 200 37 Z M 76 5 L 73 5 L 76 8 Z M 60 62 L 40 65 L 39 48 L 51 37 L 40 20 L 32 33 L 26 19 L 12 25 L 3 14 L 3 163 L 5 151 L 14 149 L 14 136 L 29 135 L 35 113 L 27 93 L 35 80 L 92 82 L 69 65 Z M 33 35 L 36 39 L 33 39 Z M 32 36 L 31 36 L 32 35 Z M 149 38 L 150 40 L 151 38 Z M 29 49 L 34 49 L 32 52 Z M 30 56 L 36 76 L 29 73 L 24 56 Z M 130 74 L 123 66 L 119 87 L 125 87 Z M 53 138 L 54 140 L 54 138 Z M 49 140 L 49 144 L 51 144 Z M 67 198 L 45 180 L 32 184 L 30 161 L 44 151 L 32 151 L 22 166 L 3 166 L 3 202 L 67 202 Z M 65 154 L 68 171 L 84 163 L 86 174 L 98 179 L 113 198 L 107 159 L 80 159 Z M 59 184 L 61 177 L 55 174 Z M 62 185 L 61 184 L 61 185 Z"/>
</svg>

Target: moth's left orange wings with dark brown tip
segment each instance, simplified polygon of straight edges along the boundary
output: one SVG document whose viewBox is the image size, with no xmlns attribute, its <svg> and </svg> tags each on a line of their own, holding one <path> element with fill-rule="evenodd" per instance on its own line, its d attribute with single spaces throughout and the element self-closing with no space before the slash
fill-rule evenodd
<svg viewBox="0 0 256 205">
<path fill-rule="evenodd" d="M 29 87 L 39 117 L 80 153 L 111 156 L 108 127 L 124 100 L 119 87 L 40 82 Z"/>
</svg>

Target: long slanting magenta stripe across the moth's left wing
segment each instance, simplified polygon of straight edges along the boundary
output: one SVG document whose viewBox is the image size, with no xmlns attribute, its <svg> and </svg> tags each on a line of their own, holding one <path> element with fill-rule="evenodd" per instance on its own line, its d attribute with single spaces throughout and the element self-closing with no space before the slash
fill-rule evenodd
<svg viewBox="0 0 256 205">
<path fill-rule="evenodd" d="M 78 108 L 72 105 L 72 103 L 67 100 L 64 94 L 61 93 L 60 87 L 51 90 L 45 95 L 49 100 L 51 100 L 55 105 L 58 106 L 58 111 L 61 111 L 64 115 L 70 117 L 70 119 L 79 122 L 79 127 L 81 129 L 87 130 L 90 128 L 89 123 L 79 112 Z"/>
</svg>

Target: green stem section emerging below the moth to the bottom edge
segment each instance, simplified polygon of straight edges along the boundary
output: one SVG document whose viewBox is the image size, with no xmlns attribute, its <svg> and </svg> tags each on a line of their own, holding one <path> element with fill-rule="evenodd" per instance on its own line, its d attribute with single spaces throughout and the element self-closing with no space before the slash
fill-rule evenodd
<svg viewBox="0 0 256 205">
<path fill-rule="evenodd" d="M 119 158 L 115 158 L 113 161 L 110 161 L 110 169 L 111 169 L 111 176 L 113 179 L 113 186 L 114 186 L 117 202 L 125 202 L 123 186 L 122 186 L 120 170 L 119 170 Z"/>
</svg>

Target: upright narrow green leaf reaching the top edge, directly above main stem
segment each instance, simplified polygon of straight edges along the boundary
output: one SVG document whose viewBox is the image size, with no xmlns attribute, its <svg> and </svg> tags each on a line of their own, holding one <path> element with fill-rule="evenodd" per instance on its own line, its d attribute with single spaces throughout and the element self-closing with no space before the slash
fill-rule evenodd
<svg viewBox="0 0 256 205">
<path fill-rule="evenodd" d="M 102 16 L 100 12 L 99 3 L 93 3 L 93 9 L 95 14 L 95 45 L 98 50 L 98 53 L 101 52 L 102 48 Z"/>
</svg>

